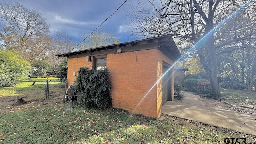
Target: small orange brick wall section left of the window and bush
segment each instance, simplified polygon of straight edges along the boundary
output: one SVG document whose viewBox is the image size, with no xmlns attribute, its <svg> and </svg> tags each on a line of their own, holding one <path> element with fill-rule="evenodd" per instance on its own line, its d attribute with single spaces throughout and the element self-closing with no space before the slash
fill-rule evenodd
<svg viewBox="0 0 256 144">
<path fill-rule="evenodd" d="M 68 86 L 76 79 L 78 76 L 78 70 L 81 67 L 88 66 L 88 68 L 92 68 L 92 62 L 87 62 L 86 57 L 70 56 L 68 58 Z M 73 76 L 73 72 L 76 72 L 76 76 Z"/>
</svg>

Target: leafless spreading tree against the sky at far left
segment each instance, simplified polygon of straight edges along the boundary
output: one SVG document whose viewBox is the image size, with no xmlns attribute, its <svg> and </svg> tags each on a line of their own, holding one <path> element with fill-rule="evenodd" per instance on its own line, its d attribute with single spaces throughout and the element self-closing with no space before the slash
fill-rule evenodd
<svg viewBox="0 0 256 144">
<path fill-rule="evenodd" d="M 0 34 L 4 47 L 16 50 L 23 57 L 32 50 L 38 50 L 29 46 L 31 41 L 35 42 L 42 35 L 50 35 L 46 18 L 37 10 L 31 10 L 17 2 L 0 3 L 0 18 L 4 22 L 3 32 Z"/>
</svg>

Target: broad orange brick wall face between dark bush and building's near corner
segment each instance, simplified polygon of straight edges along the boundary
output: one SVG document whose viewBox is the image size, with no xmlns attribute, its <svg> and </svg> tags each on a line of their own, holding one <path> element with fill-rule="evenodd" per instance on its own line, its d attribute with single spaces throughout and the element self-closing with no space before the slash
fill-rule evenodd
<svg viewBox="0 0 256 144">
<path fill-rule="evenodd" d="M 145 96 L 157 80 L 157 56 L 157 49 L 107 56 L 114 108 L 158 118 L 156 86 Z"/>
</svg>

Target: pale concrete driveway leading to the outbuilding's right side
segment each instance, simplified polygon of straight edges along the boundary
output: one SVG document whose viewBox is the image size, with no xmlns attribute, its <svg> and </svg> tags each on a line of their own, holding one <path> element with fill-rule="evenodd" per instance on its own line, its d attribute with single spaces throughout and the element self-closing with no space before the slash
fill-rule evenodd
<svg viewBox="0 0 256 144">
<path fill-rule="evenodd" d="M 256 135 L 256 115 L 206 107 L 198 102 L 200 96 L 185 95 L 185 102 L 188 102 L 167 101 L 162 106 L 162 113 Z"/>
</svg>

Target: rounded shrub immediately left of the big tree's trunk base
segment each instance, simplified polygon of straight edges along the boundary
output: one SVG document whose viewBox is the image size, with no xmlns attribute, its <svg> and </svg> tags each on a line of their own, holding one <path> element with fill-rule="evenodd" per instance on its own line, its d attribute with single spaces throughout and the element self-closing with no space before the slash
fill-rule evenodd
<svg viewBox="0 0 256 144">
<path fill-rule="evenodd" d="M 201 95 L 210 95 L 212 93 L 210 82 L 206 79 L 199 80 L 197 82 L 197 92 Z"/>
</svg>

